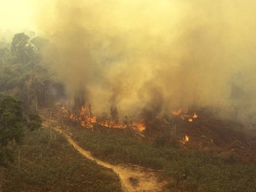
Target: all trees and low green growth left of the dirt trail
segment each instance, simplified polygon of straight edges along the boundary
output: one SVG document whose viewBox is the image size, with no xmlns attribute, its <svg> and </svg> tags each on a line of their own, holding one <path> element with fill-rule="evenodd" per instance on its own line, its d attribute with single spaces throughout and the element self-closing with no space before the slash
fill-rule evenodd
<svg viewBox="0 0 256 192">
<path fill-rule="evenodd" d="M 78 154 L 66 139 L 41 128 L 38 107 L 63 86 L 43 63 L 48 41 L 17 33 L 0 41 L 0 191 L 121 191 L 112 170 Z M 54 91 L 53 91 L 54 90 Z"/>
</svg>

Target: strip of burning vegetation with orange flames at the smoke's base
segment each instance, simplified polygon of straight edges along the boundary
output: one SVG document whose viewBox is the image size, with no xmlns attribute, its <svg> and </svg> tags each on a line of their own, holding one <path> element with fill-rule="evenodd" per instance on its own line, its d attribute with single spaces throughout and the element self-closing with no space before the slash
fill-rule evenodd
<svg viewBox="0 0 256 192">
<path fill-rule="evenodd" d="M 80 99 L 80 101 L 83 103 L 83 99 Z M 78 102 L 75 102 L 75 104 L 77 103 Z M 177 140 L 181 144 L 188 143 L 189 136 L 184 134 L 184 138 L 179 140 L 176 135 L 177 123 L 192 123 L 198 118 L 197 112 L 192 112 L 189 109 L 177 109 L 177 111 L 169 112 L 169 115 L 161 115 L 161 117 L 149 110 L 143 109 L 134 119 L 125 115 L 120 120 L 116 106 L 110 107 L 109 115 L 93 114 L 91 104 L 88 104 L 88 107 L 81 106 L 79 110 L 75 109 L 75 106 L 72 107 L 72 109 L 69 108 L 70 107 L 62 106 L 60 109 L 62 117 L 78 123 L 82 127 L 90 128 L 91 130 L 94 130 L 95 127 L 107 128 L 108 130 L 132 130 L 139 133 L 140 136 L 144 136 L 144 134 L 166 134 L 171 136 L 171 142 Z"/>
</svg>

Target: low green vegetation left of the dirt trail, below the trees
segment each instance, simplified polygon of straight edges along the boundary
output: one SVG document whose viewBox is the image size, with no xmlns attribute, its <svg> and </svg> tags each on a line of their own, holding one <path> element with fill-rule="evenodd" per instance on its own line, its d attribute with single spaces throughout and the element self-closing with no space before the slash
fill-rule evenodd
<svg viewBox="0 0 256 192">
<path fill-rule="evenodd" d="M 14 152 L 14 163 L 3 168 L 4 191 L 121 191 L 119 178 L 80 155 L 59 133 L 29 131 Z M 19 165 L 20 153 L 20 165 Z"/>
</svg>

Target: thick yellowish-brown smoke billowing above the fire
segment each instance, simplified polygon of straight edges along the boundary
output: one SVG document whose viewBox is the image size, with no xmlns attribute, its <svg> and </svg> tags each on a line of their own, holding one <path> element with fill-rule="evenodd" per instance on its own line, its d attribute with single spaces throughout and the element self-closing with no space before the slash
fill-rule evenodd
<svg viewBox="0 0 256 192">
<path fill-rule="evenodd" d="M 94 111 L 255 111 L 255 1 L 50 2 L 36 17 L 54 44 L 46 56 Z"/>
</svg>

